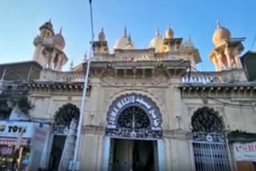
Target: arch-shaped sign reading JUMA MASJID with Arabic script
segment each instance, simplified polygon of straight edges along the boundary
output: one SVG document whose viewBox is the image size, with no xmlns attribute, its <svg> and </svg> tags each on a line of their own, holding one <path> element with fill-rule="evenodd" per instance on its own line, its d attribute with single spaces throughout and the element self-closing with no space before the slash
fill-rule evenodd
<svg viewBox="0 0 256 171">
<path fill-rule="evenodd" d="M 162 116 L 157 105 L 149 97 L 132 93 L 118 97 L 107 113 L 107 128 L 115 129 L 118 115 L 129 106 L 138 106 L 143 109 L 150 118 L 152 130 L 162 130 Z"/>
</svg>

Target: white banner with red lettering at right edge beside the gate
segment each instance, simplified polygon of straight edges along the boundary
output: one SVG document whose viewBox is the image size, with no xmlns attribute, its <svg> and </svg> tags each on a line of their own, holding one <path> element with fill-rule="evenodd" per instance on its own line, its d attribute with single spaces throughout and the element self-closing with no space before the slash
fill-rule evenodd
<svg viewBox="0 0 256 171">
<path fill-rule="evenodd" d="M 234 160 L 256 161 L 256 141 L 251 143 L 234 143 Z"/>
</svg>

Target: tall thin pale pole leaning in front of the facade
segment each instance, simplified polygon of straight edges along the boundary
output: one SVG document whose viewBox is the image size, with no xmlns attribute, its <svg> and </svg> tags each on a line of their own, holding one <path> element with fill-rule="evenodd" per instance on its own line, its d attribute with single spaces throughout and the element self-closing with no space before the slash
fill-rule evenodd
<svg viewBox="0 0 256 171">
<path fill-rule="evenodd" d="M 90 59 L 92 58 L 92 51 L 93 51 L 93 42 L 94 42 L 94 22 L 93 22 L 93 10 L 92 10 L 92 4 L 91 0 L 89 0 L 90 3 L 90 26 L 91 26 L 91 42 L 90 42 L 90 54 L 89 58 L 87 59 L 87 67 L 86 67 L 86 78 L 84 82 L 83 92 L 82 92 L 82 103 L 81 103 L 81 109 L 80 109 L 80 117 L 78 121 L 78 133 L 77 133 L 77 140 L 75 141 L 75 148 L 74 148 L 74 160 L 73 160 L 73 167 L 72 171 L 76 170 L 76 164 L 78 160 L 78 149 L 79 149 L 79 142 L 81 138 L 81 129 L 82 129 L 82 121 L 83 121 L 83 115 L 84 115 L 84 109 L 85 109 L 85 103 L 86 103 L 86 89 L 88 85 L 88 78 L 89 78 L 89 72 L 90 72 Z"/>
</svg>

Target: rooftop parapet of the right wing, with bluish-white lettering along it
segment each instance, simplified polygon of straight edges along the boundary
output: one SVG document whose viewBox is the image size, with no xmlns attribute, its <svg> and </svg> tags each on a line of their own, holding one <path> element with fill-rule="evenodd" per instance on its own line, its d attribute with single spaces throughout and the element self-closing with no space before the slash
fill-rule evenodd
<svg viewBox="0 0 256 171">
<path fill-rule="evenodd" d="M 243 69 L 223 70 L 220 72 L 188 72 L 182 77 L 185 84 L 247 82 Z"/>
</svg>

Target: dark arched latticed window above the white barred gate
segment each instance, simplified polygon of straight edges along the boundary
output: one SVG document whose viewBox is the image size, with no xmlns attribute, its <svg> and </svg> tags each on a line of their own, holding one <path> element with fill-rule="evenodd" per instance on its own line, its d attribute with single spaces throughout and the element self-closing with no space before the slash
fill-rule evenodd
<svg viewBox="0 0 256 171">
<path fill-rule="evenodd" d="M 218 116 L 218 112 L 206 106 L 194 112 L 191 125 L 193 132 L 221 133 L 224 130 L 222 118 Z"/>
</svg>

